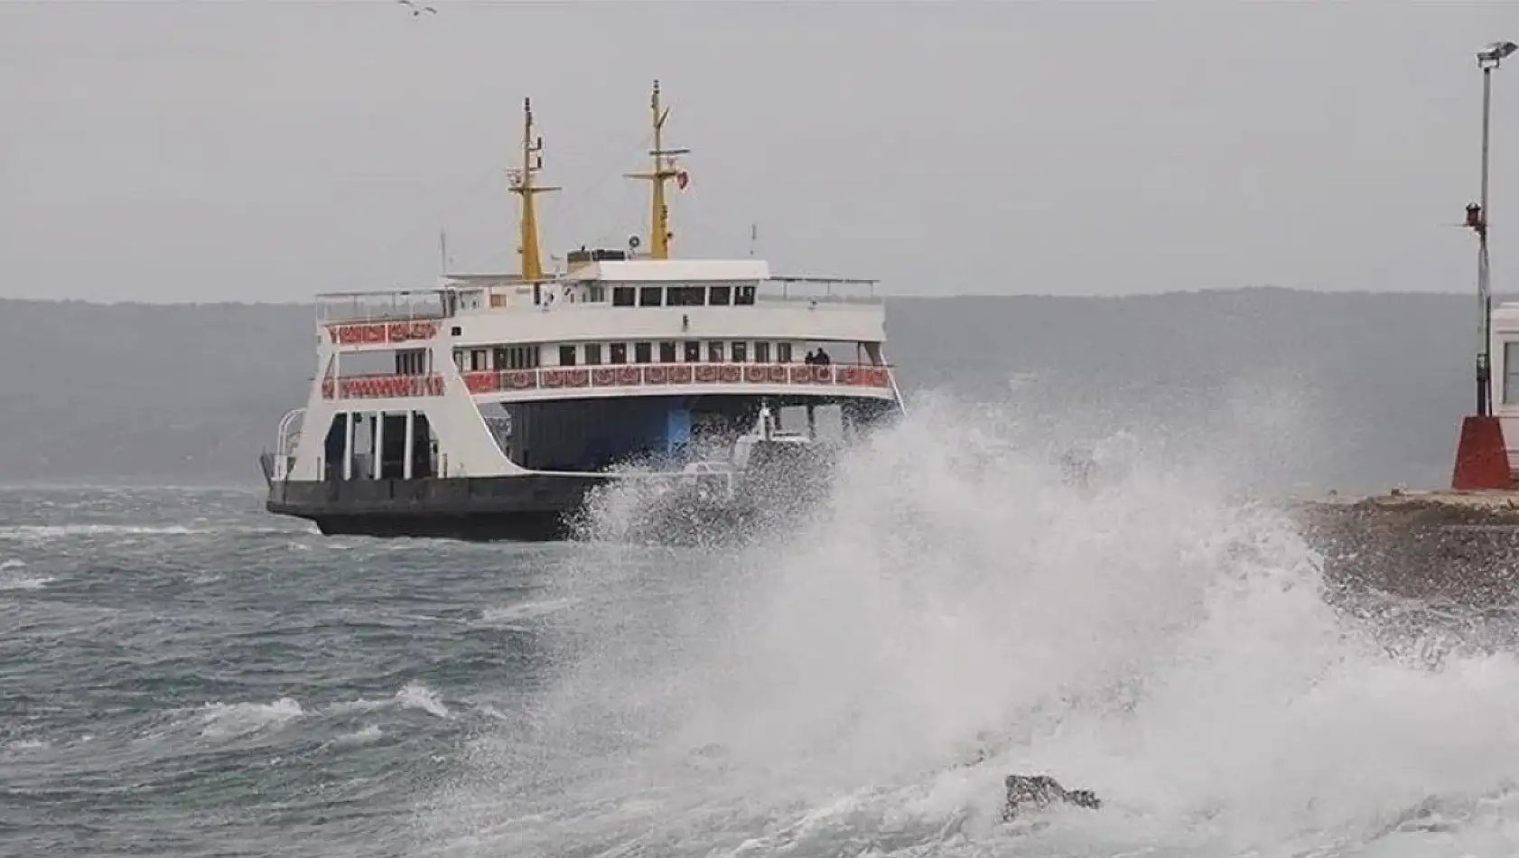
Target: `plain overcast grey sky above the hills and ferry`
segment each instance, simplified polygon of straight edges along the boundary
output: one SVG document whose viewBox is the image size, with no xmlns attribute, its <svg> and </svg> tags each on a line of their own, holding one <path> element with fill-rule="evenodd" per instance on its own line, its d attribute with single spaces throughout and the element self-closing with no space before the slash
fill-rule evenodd
<svg viewBox="0 0 1519 858">
<path fill-rule="evenodd" d="M 0 3 L 0 296 L 304 301 L 647 229 L 889 293 L 1470 290 L 1481 74 L 1513 3 Z M 1493 284 L 1519 287 L 1519 61 Z"/>
</svg>

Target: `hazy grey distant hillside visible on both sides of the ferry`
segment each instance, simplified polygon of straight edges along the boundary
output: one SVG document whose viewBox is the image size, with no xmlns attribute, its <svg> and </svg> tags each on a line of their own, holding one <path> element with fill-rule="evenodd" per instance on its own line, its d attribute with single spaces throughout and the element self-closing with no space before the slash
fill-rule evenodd
<svg viewBox="0 0 1519 858">
<path fill-rule="evenodd" d="M 887 331 L 908 396 L 1021 401 L 1030 421 L 1080 413 L 1095 431 L 1252 407 L 1271 419 L 1285 393 L 1314 433 L 1279 481 L 1443 484 L 1472 399 L 1472 304 L 1276 289 L 901 298 Z M 257 483 L 255 456 L 305 396 L 311 323 L 301 305 L 0 301 L 0 480 Z"/>
</svg>

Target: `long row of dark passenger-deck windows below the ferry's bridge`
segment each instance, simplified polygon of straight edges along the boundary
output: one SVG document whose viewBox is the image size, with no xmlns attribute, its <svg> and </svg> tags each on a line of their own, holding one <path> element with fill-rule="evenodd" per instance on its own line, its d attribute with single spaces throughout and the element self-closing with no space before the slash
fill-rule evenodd
<svg viewBox="0 0 1519 858">
<path fill-rule="evenodd" d="M 658 357 L 656 357 L 658 355 Z M 539 346 L 497 346 L 454 352 L 463 372 L 486 369 L 535 369 Z M 766 340 L 664 340 L 636 343 L 567 343 L 559 346 L 559 366 L 603 363 L 791 363 L 791 343 Z"/>
</svg>

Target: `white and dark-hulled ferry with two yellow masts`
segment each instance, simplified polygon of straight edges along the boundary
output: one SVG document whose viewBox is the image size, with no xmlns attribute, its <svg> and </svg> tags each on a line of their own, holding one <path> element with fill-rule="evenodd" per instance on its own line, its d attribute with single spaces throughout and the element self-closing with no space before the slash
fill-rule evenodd
<svg viewBox="0 0 1519 858">
<path fill-rule="evenodd" d="M 647 251 L 633 235 L 544 269 L 535 197 L 559 188 L 538 182 L 526 100 L 519 272 L 316 296 L 310 393 L 260 457 L 269 512 L 327 535 L 564 539 L 592 492 L 636 480 L 687 524 L 743 519 L 902 412 L 876 281 L 671 255 L 688 150 L 665 147 L 658 80 L 650 108 L 650 169 L 627 175 L 650 185 Z M 842 442 L 819 436 L 829 408 Z"/>
</svg>

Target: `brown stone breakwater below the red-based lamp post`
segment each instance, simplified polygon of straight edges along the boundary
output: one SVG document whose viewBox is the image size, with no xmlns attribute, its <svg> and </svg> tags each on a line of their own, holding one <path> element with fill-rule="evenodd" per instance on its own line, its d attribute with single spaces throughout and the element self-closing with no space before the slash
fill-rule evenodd
<svg viewBox="0 0 1519 858">
<path fill-rule="evenodd" d="M 1290 506 L 1334 583 L 1481 607 L 1519 601 L 1519 492 L 1331 495 Z"/>
</svg>

